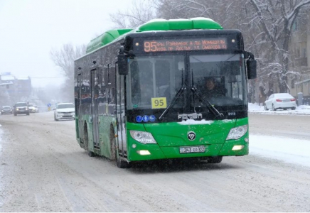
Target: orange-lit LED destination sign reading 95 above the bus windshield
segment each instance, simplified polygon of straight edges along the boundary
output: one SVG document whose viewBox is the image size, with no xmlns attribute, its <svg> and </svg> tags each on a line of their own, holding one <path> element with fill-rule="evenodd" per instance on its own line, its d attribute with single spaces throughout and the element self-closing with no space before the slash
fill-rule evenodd
<svg viewBox="0 0 310 213">
<path fill-rule="evenodd" d="M 144 52 L 165 52 L 183 50 L 225 50 L 226 38 L 192 38 L 171 40 L 145 40 Z"/>
</svg>

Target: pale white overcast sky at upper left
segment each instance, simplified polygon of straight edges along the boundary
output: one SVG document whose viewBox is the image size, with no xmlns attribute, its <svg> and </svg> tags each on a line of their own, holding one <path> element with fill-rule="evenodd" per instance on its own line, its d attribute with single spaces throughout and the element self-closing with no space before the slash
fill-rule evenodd
<svg viewBox="0 0 310 213">
<path fill-rule="evenodd" d="M 50 50 L 87 44 L 113 27 L 109 13 L 126 11 L 132 1 L 0 0 L 0 72 L 30 76 L 33 87 L 60 84 Z"/>
</svg>

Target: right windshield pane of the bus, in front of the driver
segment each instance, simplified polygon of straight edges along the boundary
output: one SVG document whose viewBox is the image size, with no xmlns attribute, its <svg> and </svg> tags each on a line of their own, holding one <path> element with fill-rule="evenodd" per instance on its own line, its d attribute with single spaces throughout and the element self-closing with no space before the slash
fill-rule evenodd
<svg viewBox="0 0 310 213">
<path fill-rule="evenodd" d="M 191 55 L 189 60 L 197 92 L 210 104 L 247 104 L 245 62 L 241 54 Z"/>
</svg>

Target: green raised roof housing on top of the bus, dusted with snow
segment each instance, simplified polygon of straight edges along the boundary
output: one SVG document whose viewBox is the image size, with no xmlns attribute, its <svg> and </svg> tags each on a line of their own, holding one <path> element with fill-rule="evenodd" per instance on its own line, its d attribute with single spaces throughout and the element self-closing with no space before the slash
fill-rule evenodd
<svg viewBox="0 0 310 213">
<path fill-rule="evenodd" d="M 185 31 L 185 30 L 222 30 L 223 27 L 219 23 L 210 18 L 190 18 L 190 19 L 153 19 L 144 23 L 136 29 L 117 29 L 106 31 L 97 38 L 94 38 L 87 44 L 86 53 L 101 48 L 113 40 L 116 40 L 125 33 L 139 33 L 146 31 Z"/>
</svg>

